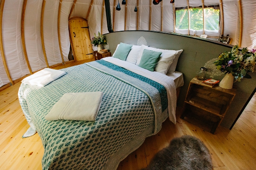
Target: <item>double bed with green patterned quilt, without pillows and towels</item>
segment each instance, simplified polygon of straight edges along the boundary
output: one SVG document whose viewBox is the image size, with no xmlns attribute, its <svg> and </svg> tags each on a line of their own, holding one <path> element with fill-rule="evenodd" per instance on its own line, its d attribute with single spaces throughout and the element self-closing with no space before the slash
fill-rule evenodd
<svg viewBox="0 0 256 170">
<path fill-rule="evenodd" d="M 22 83 L 18 93 L 43 143 L 43 170 L 116 169 L 168 116 L 176 123 L 180 72 L 150 72 L 113 57 L 62 70 L 67 74 L 45 87 Z M 87 91 L 104 94 L 96 121 L 45 120 L 63 94 Z"/>
</svg>

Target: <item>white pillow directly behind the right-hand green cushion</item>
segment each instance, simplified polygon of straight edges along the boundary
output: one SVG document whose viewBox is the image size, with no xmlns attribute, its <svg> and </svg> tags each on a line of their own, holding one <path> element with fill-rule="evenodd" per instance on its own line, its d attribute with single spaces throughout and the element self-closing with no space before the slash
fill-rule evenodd
<svg viewBox="0 0 256 170">
<path fill-rule="evenodd" d="M 174 60 L 175 55 L 178 53 L 175 50 L 156 49 L 156 48 L 152 48 L 152 47 L 147 47 L 145 45 L 141 45 L 141 51 L 139 53 L 139 57 L 137 59 L 136 65 L 139 65 L 144 49 L 162 52 L 162 54 L 160 55 L 159 60 L 156 64 L 156 67 L 154 68 L 154 71 L 161 72 L 163 74 L 167 73 L 169 67 L 171 66 L 171 63 Z"/>
</svg>

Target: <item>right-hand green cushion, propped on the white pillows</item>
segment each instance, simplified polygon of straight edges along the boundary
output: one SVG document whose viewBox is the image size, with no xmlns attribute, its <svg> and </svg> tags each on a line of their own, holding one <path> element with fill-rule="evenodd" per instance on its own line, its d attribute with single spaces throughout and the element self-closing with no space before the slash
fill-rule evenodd
<svg viewBox="0 0 256 170">
<path fill-rule="evenodd" d="M 162 52 L 144 49 L 141 56 L 141 61 L 139 62 L 139 66 L 147 70 L 154 71 L 156 63 L 158 62 L 161 54 Z"/>
</svg>

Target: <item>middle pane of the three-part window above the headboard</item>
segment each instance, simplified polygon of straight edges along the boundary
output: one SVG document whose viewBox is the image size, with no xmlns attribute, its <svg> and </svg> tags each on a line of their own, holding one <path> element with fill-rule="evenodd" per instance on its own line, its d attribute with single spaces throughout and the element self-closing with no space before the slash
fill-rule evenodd
<svg viewBox="0 0 256 170">
<path fill-rule="evenodd" d="M 189 17 L 190 17 L 190 29 L 203 30 L 204 20 L 203 20 L 202 7 L 190 7 Z"/>
</svg>

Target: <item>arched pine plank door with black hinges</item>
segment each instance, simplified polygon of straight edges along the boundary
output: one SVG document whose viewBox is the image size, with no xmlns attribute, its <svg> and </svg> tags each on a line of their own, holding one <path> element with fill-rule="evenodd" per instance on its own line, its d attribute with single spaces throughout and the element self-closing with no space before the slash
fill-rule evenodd
<svg viewBox="0 0 256 170">
<path fill-rule="evenodd" d="M 82 17 L 69 19 L 69 38 L 75 61 L 93 58 L 87 21 Z"/>
</svg>

